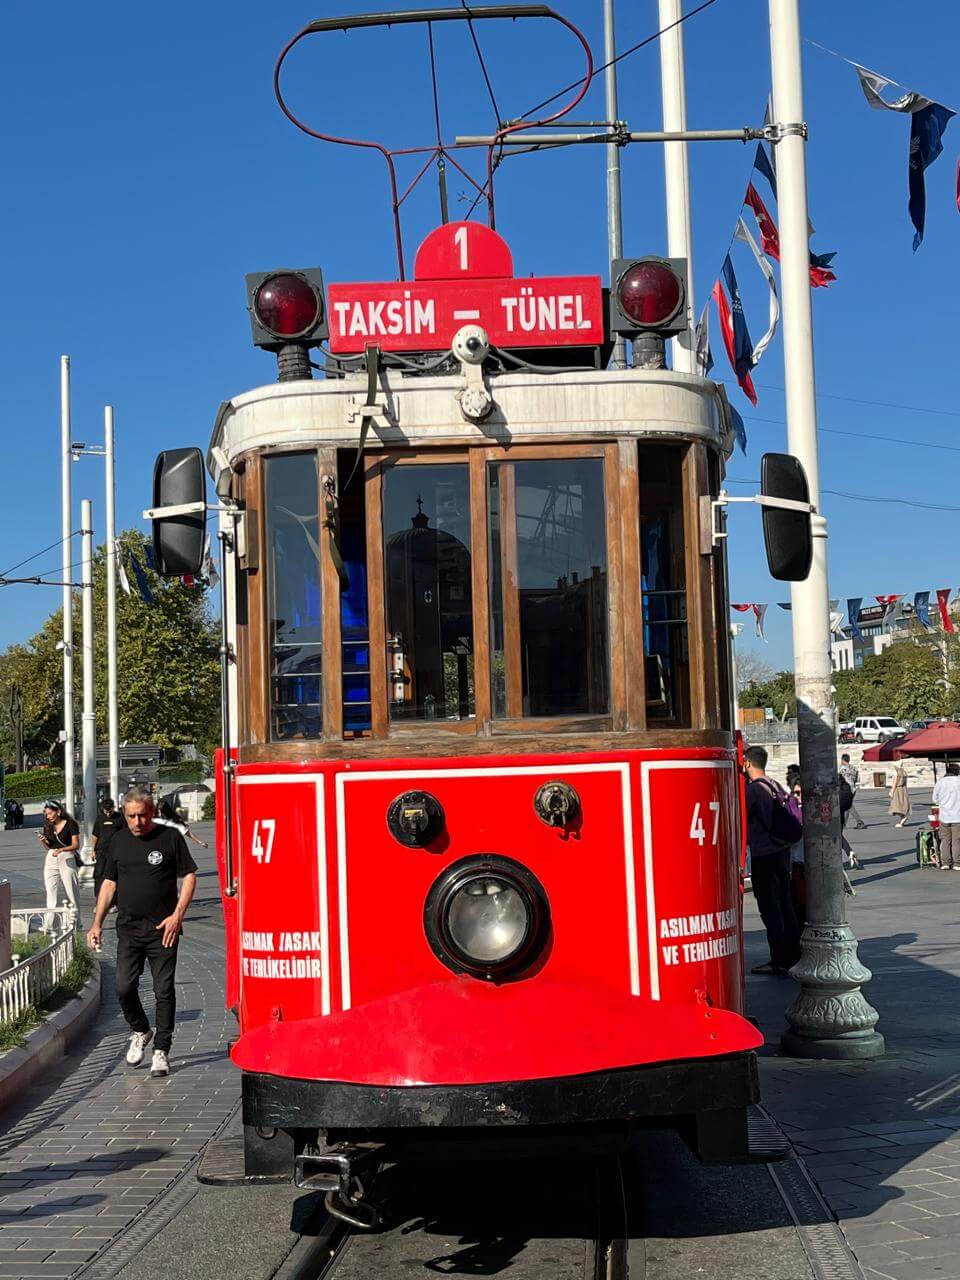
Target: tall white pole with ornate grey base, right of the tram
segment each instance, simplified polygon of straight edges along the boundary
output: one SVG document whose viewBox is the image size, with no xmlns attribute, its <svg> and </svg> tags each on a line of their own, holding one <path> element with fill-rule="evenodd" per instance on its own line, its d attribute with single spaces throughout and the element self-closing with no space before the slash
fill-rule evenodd
<svg viewBox="0 0 960 1280">
<path fill-rule="evenodd" d="M 769 0 L 773 114 L 780 131 L 777 184 L 783 297 L 783 371 L 787 440 L 806 470 L 810 502 L 819 508 L 817 401 L 813 369 L 809 233 L 806 221 L 806 125 L 804 120 L 797 0 Z M 837 731 L 829 662 L 827 521 L 814 513 L 813 567 L 791 584 L 794 667 L 804 790 L 806 927 L 803 955 L 791 970 L 800 993 L 787 1010 L 782 1048 L 795 1057 L 869 1059 L 883 1052 L 878 1014 L 860 987 L 872 977 L 846 923 Z"/>
</svg>

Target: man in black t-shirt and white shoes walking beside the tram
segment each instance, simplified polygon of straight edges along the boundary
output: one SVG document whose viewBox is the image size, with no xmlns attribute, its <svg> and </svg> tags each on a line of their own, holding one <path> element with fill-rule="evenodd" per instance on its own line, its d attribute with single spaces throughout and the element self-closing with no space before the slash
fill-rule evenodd
<svg viewBox="0 0 960 1280">
<path fill-rule="evenodd" d="M 131 1028 L 127 1061 L 140 1066 L 152 1039 L 140 1001 L 140 978 L 150 964 L 156 996 L 156 1041 L 150 1074 L 170 1073 L 177 1015 L 177 952 L 183 916 L 197 887 L 197 864 L 183 836 L 154 822 L 154 797 L 143 788 L 123 797 L 125 827 L 110 840 L 90 946 L 99 947 L 106 913 L 116 897 L 116 998 Z M 183 881 L 177 893 L 177 882 Z"/>
</svg>

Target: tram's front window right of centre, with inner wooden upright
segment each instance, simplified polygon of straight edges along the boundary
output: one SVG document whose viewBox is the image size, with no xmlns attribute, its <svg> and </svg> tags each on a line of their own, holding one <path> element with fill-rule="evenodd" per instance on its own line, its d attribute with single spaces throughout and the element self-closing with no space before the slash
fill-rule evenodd
<svg viewBox="0 0 960 1280">
<path fill-rule="evenodd" d="M 609 710 L 603 460 L 492 463 L 493 713 Z"/>
</svg>

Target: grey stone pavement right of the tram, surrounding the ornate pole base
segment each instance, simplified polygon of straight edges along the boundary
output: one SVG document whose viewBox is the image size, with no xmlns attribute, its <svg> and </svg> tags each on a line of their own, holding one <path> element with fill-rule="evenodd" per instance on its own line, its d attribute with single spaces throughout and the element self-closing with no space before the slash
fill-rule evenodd
<svg viewBox="0 0 960 1280">
<path fill-rule="evenodd" d="M 919 870 L 913 824 L 895 831 L 883 795 L 856 797 L 869 826 L 850 832 L 864 868 L 849 918 L 873 972 L 878 1062 L 778 1056 L 795 987 L 748 978 L 750 1011 L 767 1036 L 763 1100 L 805 1160 L 868 1280 L 960 1280 L 960 874 Z M 765 959 L 748 899 L 746 963 Z"/>
</svg>

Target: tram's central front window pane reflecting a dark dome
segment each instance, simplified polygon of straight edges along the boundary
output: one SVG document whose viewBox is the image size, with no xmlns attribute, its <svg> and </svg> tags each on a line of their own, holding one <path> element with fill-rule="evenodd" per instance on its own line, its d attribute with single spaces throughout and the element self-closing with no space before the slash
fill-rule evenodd
<svg viewBox="0 0 960 1280">
<path fill-rule="evenodd" d="M 475 714 L 470 479 L 411 463 L 383 480 L 390 719 Z"/>
</svg>

